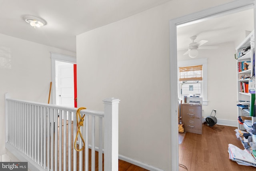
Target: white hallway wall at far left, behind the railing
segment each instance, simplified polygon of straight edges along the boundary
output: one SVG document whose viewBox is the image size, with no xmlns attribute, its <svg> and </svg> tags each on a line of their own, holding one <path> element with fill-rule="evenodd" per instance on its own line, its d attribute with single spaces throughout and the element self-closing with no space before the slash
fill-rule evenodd
<svg viewBox="0 0 256 171">
<path fill-rule="evenodd" d="M 6 153 L 4 94 L 48 103 L 52 79 L 50 52 L 76 56 L 73 52 L 0 34 L 0 156 Z M 10 56 L 10 65 L 3 64 L 6 53 Z"/>
</svg>

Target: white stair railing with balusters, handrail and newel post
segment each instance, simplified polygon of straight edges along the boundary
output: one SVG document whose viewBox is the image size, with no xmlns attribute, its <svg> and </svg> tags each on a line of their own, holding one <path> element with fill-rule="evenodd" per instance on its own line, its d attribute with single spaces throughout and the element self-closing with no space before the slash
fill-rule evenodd
<svg viewBox="0 0 256 171">
<path fill-rule="evenodd" d="M 20 161 L 28 161 L 28 168 L 33 171 L 88 171 L 89 149 L 91 170 L 95 171 L 97 149 L 98 170 L 103 169 L 104 151 L 104 170 L 118 171 L 119 101 L 114 98 L 103 100 L 104 112 L 80 111 L 81 115 L 85 115 L 81 129 L 85 140 L 83 156 L 83 151 L 76 152 L 74 149 L 77 108 L 11 99 L 7 93 L 6 149 Z M 81 149 L 83 143 L 80 136 L 76 143 Z"/>
</svg>

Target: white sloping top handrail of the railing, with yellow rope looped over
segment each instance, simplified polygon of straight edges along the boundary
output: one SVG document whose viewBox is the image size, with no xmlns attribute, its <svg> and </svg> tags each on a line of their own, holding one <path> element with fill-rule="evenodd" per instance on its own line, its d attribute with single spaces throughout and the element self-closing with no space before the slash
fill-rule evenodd
<svg viewBox="0 0 256 171">
<path fill-rule="evenodd" d="M 76 107 L 66 107 L 66 106 L 40 103 L 40 102 L 35 102 L 35 101 L 26 101 L 26 100 L 20 100 L 20 99 L 6 98 L 6 100 L 7 101 L 19 102 L 19 103 L 28 103 L 28 104 L 31 104 L 31 105 L 38 105 L 38 106 L 42 106 L 42 107 L 50 107 L 52 109 L 66 110 L 66 111 L 71 111 L 71 112 L 74 112 L 74 113 L 76 113 L 76 111 L 78 109 Z M 88 115 L 92 115 L 92 116 L 97 116 L 97 117 L 104 117 L 104 112 L 103 111 L 84 109 L 84 110 L 81 110 L 80 113 L 81 114 L 88 114 Z"/>
</svg>

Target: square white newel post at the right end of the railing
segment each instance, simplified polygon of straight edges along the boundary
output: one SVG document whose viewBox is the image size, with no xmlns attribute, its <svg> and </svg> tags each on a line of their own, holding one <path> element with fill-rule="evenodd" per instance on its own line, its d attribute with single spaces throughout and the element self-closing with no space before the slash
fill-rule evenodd
<svg viewBox="0 0 256 171">
<path fill-rule="evenodd" d="M 104 170 L 118 171 L 118 103 L 104 99 Z"/>
</svg>

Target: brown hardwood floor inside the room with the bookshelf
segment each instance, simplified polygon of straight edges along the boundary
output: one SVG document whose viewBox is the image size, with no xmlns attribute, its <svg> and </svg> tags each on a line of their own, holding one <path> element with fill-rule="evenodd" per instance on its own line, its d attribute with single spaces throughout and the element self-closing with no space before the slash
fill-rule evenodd
<svg viewBox="0 0 256 171">
<path fill-rule="evenodd" d="M 179 163 L 188 171 L 256 171 L 256 167 L 238 165 L 228 159 L 228 144 L 244 149 L 236 138 L 236 127 L 223 127 L 221 131 L 203 125 L 202 135 L 187 132 L 179 145 Z M 179 167 L 179 171 L 186 169 Z"/>
</svg>

